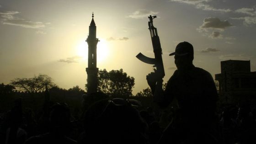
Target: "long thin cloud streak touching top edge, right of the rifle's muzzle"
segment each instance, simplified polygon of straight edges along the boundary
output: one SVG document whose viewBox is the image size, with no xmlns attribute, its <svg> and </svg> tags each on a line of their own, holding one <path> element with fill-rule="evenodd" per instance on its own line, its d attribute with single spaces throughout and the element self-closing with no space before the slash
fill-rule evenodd
<svg viewBox="0 0 256 144">
<path fill-rule="evenodd" d="M 218 8 L 214 8 L 211 5 L 208 5 L 206 3 L 208 3 L 209 1 L 212 0 L 170 0 L 171 2 L 180 2 L 180 3 L 185 3 L 185 4 L 189 4 L 189 5 L 195 5 L 195 7 L 197 9 L 201 9 L 204 11 L 221 11 L 221 12 L 230 12 L 230 9 L 218 9 Z"/>
</svg>

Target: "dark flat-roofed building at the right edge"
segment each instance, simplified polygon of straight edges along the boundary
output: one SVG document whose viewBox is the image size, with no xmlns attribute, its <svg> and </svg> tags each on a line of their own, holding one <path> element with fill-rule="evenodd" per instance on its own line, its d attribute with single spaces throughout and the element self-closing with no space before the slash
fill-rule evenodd
<svg viewBox="0 0 256 144">
<path fill-rule="evenodd" d="M 219 99 L 224 103 L 256 100 L 256 71 L 251 72 L 250 60 L 226 60 L 220 62 Z"/>
</svg>

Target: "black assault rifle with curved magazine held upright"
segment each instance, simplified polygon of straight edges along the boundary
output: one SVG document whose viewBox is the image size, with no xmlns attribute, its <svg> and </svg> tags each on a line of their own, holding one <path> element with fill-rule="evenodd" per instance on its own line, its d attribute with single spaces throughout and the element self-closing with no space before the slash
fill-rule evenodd
<svg viewBox="0 0 256 144">
<path fill-rule="evenodd" d="M 156 18 L 156 16 L 149 16 L 149 31 L 151 36 L 151 41 L 153 45 L 153 50 L 155 53 L 155 58 L 149 58 L 144 56 L 142 53 L 137 54 L 137 58 L 141 60 L 144 63 L 147 64 L 154 64 L 153 67 L 156 68 L 156 72 L 158 73 L 161 78 L 165 76 L 165 69 L 163 65 L 163 59 L 162 59 L 162 48 L 160 44 L 160 39 L 157 34 L 157 29 L 153 26 L 153 19 Z"/>
</svg>

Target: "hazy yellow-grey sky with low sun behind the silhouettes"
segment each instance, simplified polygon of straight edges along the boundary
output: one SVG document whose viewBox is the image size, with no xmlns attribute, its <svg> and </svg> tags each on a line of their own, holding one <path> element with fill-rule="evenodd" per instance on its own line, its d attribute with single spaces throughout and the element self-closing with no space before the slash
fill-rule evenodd
<svg viewBox="0 0 256 144">
<path fill-rule="evenodd" d="M 156 15 L 166 82 L 176 69 L 169 53 L 194 46 L 194 65 L 214 74 L 220 61 L 251 60 L 256 71 L 255 0 L 0 0 L 0 83 L 46 74 L 61 88 L 85 89 L 91 13 L 97 26 L 97 67 L 135 78 L 133 94 L 147 88 L 153 57 L 149 15 Z"/>
</svg>

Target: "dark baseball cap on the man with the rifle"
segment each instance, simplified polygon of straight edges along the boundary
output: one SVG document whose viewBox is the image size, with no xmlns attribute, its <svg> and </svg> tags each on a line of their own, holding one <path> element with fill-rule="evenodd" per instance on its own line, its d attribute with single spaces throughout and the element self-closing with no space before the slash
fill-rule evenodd
<svg viewBox="0 0 256 144">
<path fill-rule="evenodd" d="M 194 55 L 194 48 L 192 44 L 188 42 L 181 42 L 176 46 L 175 52 L 170 53 L 169 55 L 184 56 L 187 54 Z"/>
</svg>

